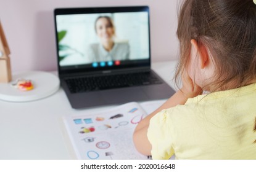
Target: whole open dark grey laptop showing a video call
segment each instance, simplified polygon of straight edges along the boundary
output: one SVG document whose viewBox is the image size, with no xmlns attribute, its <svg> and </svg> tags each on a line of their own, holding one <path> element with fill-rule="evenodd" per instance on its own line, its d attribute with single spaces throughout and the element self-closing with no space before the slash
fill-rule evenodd
<svg viewBox="0 0 256 172">
<path fill-rule="evenodd" d="M 60 85 L 74 109 L 169 98 L 151 69 L 149 7 L 55 9 Z"/>
</svg>

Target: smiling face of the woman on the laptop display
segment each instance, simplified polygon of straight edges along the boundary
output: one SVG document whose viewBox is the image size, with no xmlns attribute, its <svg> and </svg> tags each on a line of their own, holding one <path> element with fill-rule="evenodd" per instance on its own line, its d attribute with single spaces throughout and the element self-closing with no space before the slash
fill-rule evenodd
<svg viewBox="0 0 256 172">
<path fill-rule="evenodd" d="M 101 39 L 101 42 L 109 42 L 112 41 L 112 37 L 114 36 L 114 28 L 107 18 L 102 17 L 96 22 L 96 33 L 99 39 Z"/>
</svg>

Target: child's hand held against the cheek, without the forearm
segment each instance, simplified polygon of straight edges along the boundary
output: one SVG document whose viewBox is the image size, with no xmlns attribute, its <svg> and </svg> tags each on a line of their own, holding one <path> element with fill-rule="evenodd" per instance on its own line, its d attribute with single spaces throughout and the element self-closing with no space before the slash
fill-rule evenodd
<svg viewBox="0 0 256 172">
<path fill-rule="evenodd" d="M 199 85 L 193 82 L 191 77 L 189 77 L 187 71 L 183 72 L 183 75 L 181 78 L 183 82 L 181 92 L 183 93 L 184 96 L 186 96 L 187 98 L 193 98 L 202 93 L 202 88 L 200 88 Z"/>
</svg>

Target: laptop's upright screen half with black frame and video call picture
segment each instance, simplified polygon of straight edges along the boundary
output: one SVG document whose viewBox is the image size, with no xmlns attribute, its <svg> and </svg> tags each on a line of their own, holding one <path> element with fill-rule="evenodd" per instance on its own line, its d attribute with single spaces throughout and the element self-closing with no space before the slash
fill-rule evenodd
<svg viewBox="0 0 256 172">
<path fill-rule="evenodd" d="M 150 66 L 149 7 L 55 9 L 59 72 Z"/>
</svg>

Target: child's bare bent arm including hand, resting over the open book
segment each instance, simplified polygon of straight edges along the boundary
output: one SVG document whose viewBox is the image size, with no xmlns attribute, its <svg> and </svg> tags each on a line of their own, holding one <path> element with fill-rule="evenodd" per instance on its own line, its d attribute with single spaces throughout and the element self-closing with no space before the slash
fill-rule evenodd
<svg viewBox="0 0 256 172">
<path fill-rule="evenodd" d="M 147 128 L 149 127 L 149 121 L 151 118 L 163 109 L 168 109 L 178 104 L 186 103 L 188 98 L 197 96 L 200 94 L 200 92 L 202 92 L 202 89 L 198 85 L 193 84 L 188 74 L 183 76 L 183 87 L 181 90 L 171 96 L 162 106 L 160 106 L 160 108 L 152 112 L 150 115 L 147 115 L 147 117 L 139 122 L 135 128 L 133 141 L 136 149 L 141 152 L 141 154 L 151 155 L 151 144 L 147 139 Z"/>
</svg>

